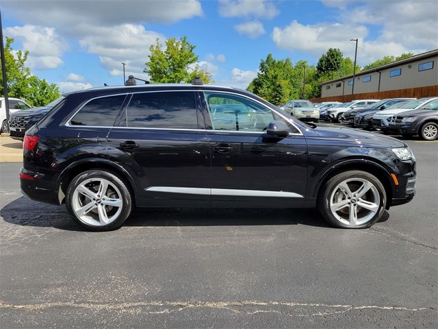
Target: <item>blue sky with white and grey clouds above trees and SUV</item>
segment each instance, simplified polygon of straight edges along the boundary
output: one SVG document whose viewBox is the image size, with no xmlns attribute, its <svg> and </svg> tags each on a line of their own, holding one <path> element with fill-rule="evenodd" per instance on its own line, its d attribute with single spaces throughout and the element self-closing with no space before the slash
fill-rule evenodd
<svg viewBox="0 0 438 329">
<path fill-rule="evenodd" d="M 3 34 L 29 51 L 32 73 L 62 92 L 123 84 L 156 40 L 196 45 L 215 84 L 246 88 L 261 59 L 316 64 L 329 48 L 363 66 L 438 48 L 437 0 L 1 0 Z"/>
</svg>

